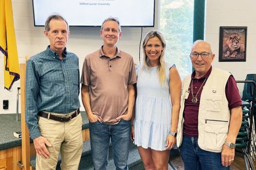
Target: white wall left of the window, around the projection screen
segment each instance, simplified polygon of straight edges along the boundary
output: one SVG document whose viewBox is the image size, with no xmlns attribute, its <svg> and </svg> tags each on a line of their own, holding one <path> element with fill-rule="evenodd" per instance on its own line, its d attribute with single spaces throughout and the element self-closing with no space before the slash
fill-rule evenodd
<svg viewBox="0 0 256 170">
<path fill-rule="evenodd" d="M 156 9 L 158 8 L 158 0 L 156 1 Z M 25 56 L 35 55 L 44 51 L 49 45 L 49 40 L 44 36 L 44 28 L 34 27 L 33 9 L 31 0 L 12 0 L 13 19 L 16 33 L 17 50 L 19 63 L 25 63 Z M 47 7 L 45 7 L 47 8 Z M 66 10 L 66 9 L 65 9 Z M 156 10 L 155 28 L 143 28 L 143 35 L 151 29 L 157 29 L 158 10 Z M 109 16 L 105 16 L 109 17 Z M 82 68 L 84 57 L 100 48 L 102 39 L 99 36 L 100 28 L 81 28 L 71 27 L 70 38 L 67 49 L 79 56 L 80 71 Z M 118 47 L 127 53 L 130 53 L 135 62 L 139 61 L 139 43 L 140 28 L 122 28 L 122 38 L 118 42 Z M 0 114 L 16 113 L 17 87 L 19 81 L 15 82 L 12 91 L 4 89 L 4 59 L 0 55 Z M 60 89 L 61 90 L 61 89 Z M 80 96 L 81 99 L 81 96 Z M 9 109 L 3 110 L 3 100 L 9 100 Z M 80 102 L 81 103 L 81 102 Z M 20 102 L 19 102 L 20 105 Z M 82 106 L 82 104 L 81 104 Z M 81 110 L 84 110 L 81 107 Z M 20 106 L 19 106 L 20 112 Z"/>
</svg>

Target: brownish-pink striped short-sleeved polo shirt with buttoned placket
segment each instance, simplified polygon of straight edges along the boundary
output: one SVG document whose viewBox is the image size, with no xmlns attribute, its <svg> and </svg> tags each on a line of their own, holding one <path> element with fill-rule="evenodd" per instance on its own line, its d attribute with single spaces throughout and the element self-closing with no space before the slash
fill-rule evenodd
<svg viewBox="0 0 256 170">
<path fill-rule="evenodd" d="M 110 58 L 102 47 L 84 59 L 80 83 L 90 86 L 93 114 L 104 123 L 117 124 L 116 118 L 127 113 L 128 85 L 137 82 L 136 71 L 131 55 L 117 48 Z"/>
</svg>

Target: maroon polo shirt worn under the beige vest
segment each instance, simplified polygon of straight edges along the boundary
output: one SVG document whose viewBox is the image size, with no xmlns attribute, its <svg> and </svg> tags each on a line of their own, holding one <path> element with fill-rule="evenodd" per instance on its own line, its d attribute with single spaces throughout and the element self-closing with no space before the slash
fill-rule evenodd
<svg viewBox="0 0 256 170">
<path fill-rule="evenodd" d="M 191 79 L 194 80 L 193 81 L 194 96 L 197 94 L 204 80 L 210 76 L 211 70 L 212 70 L 212 67 L 210 67 L 207 73 L 200 79 L 195 78 L 196 71 L 193 71 L 193 73 L 191 74 Z M 198 101 L 196 104 L 191 102 L 192 100 L 191 82 L 188 90 L 190 90 L 190 93 L 188 95 L 188 98 L 185 100 L 185 108 L 183 113 L 183 116 L 184 116 L 183 134 L 190 137 L 198 137 L 198 112 L 199 112 L 199 104 L 200 104 L 202 88 L 197 94 Z M 239 95 L 237 83 L 236 83 L 236 80 L 234 80 L 232 75 L 228 78 L 228 81 L 225 87 L 225 93 L 226 93 L 229 109 L 242 105 L 242 100 Z"/>
</svg>

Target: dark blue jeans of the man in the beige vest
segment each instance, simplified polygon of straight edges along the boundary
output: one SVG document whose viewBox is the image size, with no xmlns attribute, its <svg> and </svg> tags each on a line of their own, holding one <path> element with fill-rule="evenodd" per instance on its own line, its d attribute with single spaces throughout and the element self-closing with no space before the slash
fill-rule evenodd
<svg viewBox="0 0 256 170">
<path fill-rule="evenodd" d="M 204 151 L 198 146 L 198 138 L 183 135 L 182 144 L 179 148 L 185 170 L 215 170 L 229 169 L 223 166 L 221 153 Z"/>
</svg>

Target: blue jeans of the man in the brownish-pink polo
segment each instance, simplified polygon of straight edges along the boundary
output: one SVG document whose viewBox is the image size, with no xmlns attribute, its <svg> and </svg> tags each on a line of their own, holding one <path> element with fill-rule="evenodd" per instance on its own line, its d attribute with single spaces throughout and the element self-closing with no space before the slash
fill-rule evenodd
<svg viewBox="0 0 256 170">
<path fill-rule="evenodd" d="M 106 125 L 97 121 L 89 123 L 89 128 L 94 169 L 106 169 L 110 139 L 116 169 L 128 169 L 131 120 L 121 119 L 116 125 Z"/>
</svg>

